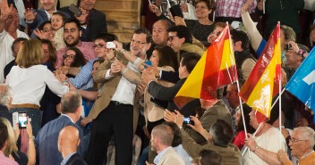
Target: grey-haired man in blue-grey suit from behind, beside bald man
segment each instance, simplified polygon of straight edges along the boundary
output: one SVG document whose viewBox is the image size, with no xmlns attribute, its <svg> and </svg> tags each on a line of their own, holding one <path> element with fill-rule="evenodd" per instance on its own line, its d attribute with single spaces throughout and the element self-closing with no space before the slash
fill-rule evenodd
<svg viewBox="0 0 315 165">
<path fill-rule="evenodd" d="M 38 132 L 35 139 L 39 164 L 55 165 L 63 161 L 63 156 L 58 151 L 57 141 L 59 132 L 66 126 L 78 128 L 80 139 L 83 136 L 83 131 L 75 122 L 80 119 L 82 111 L 81 95 L 76 92 L 67 92 L 61 98 L 62 114 L 59 118 L 51 120 Z M 83 146 L 80 143 L 78 153 L 83 152 Z"/>
</svg>

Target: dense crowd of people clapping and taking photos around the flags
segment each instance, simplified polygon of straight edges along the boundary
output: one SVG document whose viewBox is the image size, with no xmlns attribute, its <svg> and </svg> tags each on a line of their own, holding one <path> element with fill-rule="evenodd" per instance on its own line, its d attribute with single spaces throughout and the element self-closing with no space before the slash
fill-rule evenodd
<svg viewBox="0 0 315 165">
<path fill-rule="evenodd" d="M 81 15 L 21 4 L 0 1 L 0 164 L 315 164 L 309 107 L 285 91 L 260 121 L 238 96 L 277 21 L 282 87 L 292 78 L 315 44 L 308 0 L 143 0 L 129 43 L 107 32 L 96 0 L 79 0 Z M 226 26 L 238 82 L 179 109 Z"/>
</svg>

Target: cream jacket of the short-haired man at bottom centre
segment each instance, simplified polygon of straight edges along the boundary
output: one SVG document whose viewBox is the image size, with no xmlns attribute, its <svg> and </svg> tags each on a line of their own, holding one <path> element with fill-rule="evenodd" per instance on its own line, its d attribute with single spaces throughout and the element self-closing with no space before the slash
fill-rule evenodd
<svg viewBox="0 0 315 165">
<path fill-rule="evenodd" d="M 175 152 L 173 147 L 170 147 L 166 150 L 166 153 L 162 155 L 157 165 L 169 165 L 169 164 L 176 164 L 176 165 L 185 164 L 183 159 Z"/>
</svg>

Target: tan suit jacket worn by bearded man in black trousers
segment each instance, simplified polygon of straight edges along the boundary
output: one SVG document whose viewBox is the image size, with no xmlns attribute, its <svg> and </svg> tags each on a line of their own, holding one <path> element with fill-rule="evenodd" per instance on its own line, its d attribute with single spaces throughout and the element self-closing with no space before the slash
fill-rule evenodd
<svg viewBox="0 0 315 165">
<path fill-rule="evenodd" d="M 123 55 L 121 56 L 123 57 Z M 124 64 L 128 63 L 126 59 L 121 60 Z M 98 99 L 93 104 L 91 111 L 89 111 L 89 118 L 93 120 L 96 119 L 98 114 L 105 110 L 110 103 L 122 76 L 135 84 L 138 84 L 141 81 L 140 73 L 135 73 L 129 68 L 123 70 L 123 74 L 117 74 L 113 78 L 106 79 L 106 71 L 110 69 L 110 66 L 111 62 L 106 60 L 99 65 L 98 71 L 93 75 L 94 81 L 98 83 L 98 87 L 102 86 L 101 91 L 98 93 Z M 133 98 L 133 133 L 135 133 L 139 120 L 139 100 L 140 94 L 137 90 Z"/>
</svg>

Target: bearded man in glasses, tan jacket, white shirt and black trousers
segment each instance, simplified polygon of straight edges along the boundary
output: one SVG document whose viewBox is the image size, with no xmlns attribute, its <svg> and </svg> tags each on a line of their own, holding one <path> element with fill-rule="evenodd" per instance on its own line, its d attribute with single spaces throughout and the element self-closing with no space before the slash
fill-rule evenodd
<svg viewBox="0 0 315 165">
<path fill-rule="evenodd" d="M 145 59 L 151 40 L 148 29 L 136 29 L 132 36 L 131 54 L 142 60 Z M 124 50 L 121 52 L 126 54 Z M 117 55 L 116 58 L 121 60 L 123 55 Z M 113 135 L 115 136 L 115 164 L 132 164 L 133 125 L 136 124 L 134 121 L 138 120 L 136 113 L 133 113 L 135 111 L 133 107 L 136 106 L 137 100 L 136 79 L 140 79 L 140 74 L 135 62 L 128 62 L 126 66 L 127 68 L 117 60 L 115 62 L 106 60 L 93 74 L 94 80 L 97 83 L 104 83 L 104 86 L 92 110 L 89 111 L 93 128 L 89 140 L 88 164 L 102 165 L 106 162 L 104 156 Z M 135 73 L 134 76 L 126 76 L 130 72 Z"/>
</svg>

